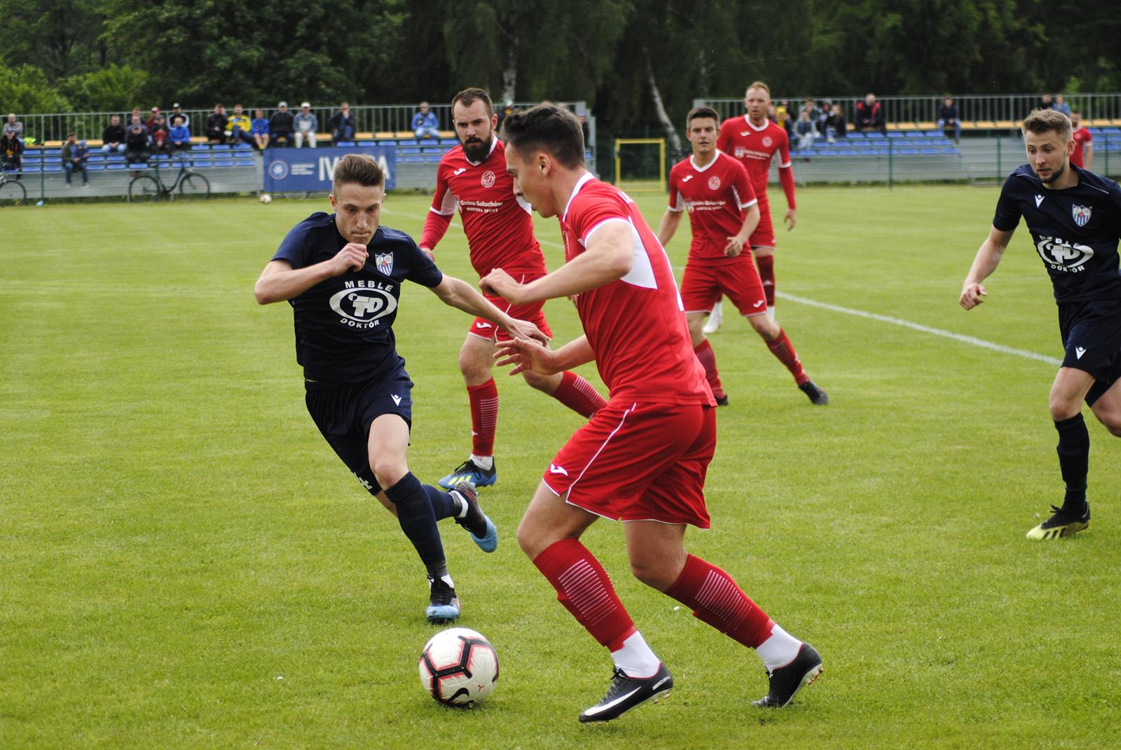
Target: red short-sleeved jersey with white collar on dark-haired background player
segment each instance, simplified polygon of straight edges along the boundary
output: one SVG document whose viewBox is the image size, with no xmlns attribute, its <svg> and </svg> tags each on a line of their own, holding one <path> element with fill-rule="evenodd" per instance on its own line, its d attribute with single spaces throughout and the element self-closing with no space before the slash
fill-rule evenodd
<svg viewBox="0 0 1121 750">
<path fill-rule="evenodd" d="M 688 211 L 693 243 L 689 260 L 730 260 L 724 254 L 728 238 L 743 226 L 743 210 L 758 203 L 743 165 L 716 151 L 703 167 L 693 157 L 669 170 L 669 210 Z"/>
</svg>

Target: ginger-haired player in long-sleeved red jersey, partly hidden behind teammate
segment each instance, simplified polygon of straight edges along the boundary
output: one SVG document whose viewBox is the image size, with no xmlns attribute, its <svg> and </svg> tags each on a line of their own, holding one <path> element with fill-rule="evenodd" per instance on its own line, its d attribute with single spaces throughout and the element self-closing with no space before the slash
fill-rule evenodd
<svg viewBox="0 0 1121 750">
<path fill-rule="evenodd" d="M 759 198 L 759 225 L 751 234 L 751 249 L 759 265 L 759 277 L 767 295 L 767 313 L 775 317 L 775 226 L 771 223 L 770 202 L 767 198 L 767 179 L 771 160 L 779 155 L 778 178 L 786 194 L 786 230 L 794 229 L 794 173 L 790 169 L 790 140 L 786 130 L 767 119 L 770 107 L 770 87 L 762 81 L 748 86 L 743 98 L 748 113 L 725 120 L 720 127 L 716 148 L 735 157 L 748 168 L 751 186 Z"/>
</svg>

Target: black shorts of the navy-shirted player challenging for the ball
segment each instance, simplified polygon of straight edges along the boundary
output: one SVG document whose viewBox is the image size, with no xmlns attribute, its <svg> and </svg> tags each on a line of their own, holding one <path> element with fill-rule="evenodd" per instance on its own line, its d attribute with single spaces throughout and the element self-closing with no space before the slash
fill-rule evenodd
<svg viewBox="0 0 1121 750">
<path fill-rule="evenodd" d="M 404 370 L 361 383 L 304 382 L 307 413 L 331 447 L 370 494 L 381 491 L 370 469 L 370 425 L 396 414 L 413 426 L 413 381 Z"/>
</svg>

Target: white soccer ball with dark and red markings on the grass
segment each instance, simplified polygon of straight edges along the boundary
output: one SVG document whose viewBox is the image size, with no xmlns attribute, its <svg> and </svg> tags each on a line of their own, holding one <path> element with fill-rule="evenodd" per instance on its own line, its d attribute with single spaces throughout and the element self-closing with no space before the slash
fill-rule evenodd
<svg viewBox="0 0 1121 750">
<path fill-rule="evenodd" d="M 481 633 L 448 628 L 420 651 L 420 685 L 445 705 L 482 703 L 498 682 L 498 655 Z"/>
</svg>

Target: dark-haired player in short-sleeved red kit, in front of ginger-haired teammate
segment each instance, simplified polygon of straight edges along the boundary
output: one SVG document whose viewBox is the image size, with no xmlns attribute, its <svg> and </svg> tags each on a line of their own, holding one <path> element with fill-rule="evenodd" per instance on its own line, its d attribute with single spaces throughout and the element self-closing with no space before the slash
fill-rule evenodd
<svg viewBox="0 0 1121 750">
<path fill-rule="evenodd" d="M 728 295 L 771 354 L 790 371 L 798 388 L 813 404 L 824 406 L 828 396 L 809 379 L 786 332 L 767 315 L 762 283 L 748 247 L 759 223 L 758 201 L 743 165 L 716 150 L 719 122 L 720 115 L 708 107 L 697 107 L 686 117 L 685 137 L 693 145 L 693 156 L 669 170 L 669 210 L 658 226 L 658 241 L 666 247 L 682 214 L 689 213 L 693 243 L 682 276 L 682 300 L 693 350 L 704 365 L 716 402 L 728 404 L 716 354 L 702 330 L 713 304 Z"/>
</svg>

